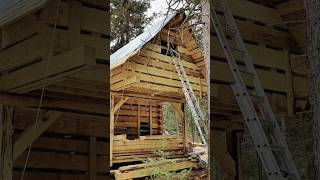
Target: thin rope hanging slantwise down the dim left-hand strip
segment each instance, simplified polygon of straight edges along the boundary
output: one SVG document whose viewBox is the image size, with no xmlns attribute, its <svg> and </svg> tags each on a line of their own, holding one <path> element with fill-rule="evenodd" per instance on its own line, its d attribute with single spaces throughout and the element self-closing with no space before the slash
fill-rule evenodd
<svg viewBox="0 0 320 180">
<path fill-rule="evenodd" d="M 44 71 L 44 74 L 43 74 L 44 75 L 44 81 L 42 83 L 39 105 L 38 105 L 38 108 L 37 108 L 36 119 L 35 119 L 32 135 L 31 135 L 31 140 L 30 140 L 31 142 L 30 142 L 30 145 L 29 145 L 29 148 L 28 148 L 28 153 L 27 153 L 27 157 L 26 157 L 26 160 L 25 160 L 25 163 L 24 163 L 24 166 L 23 166 L 23 170 L 22 170 L 22 174 L 21 174 L 20 180 L 23 180 L 23 178 L 24 178 L 24 174 L 25 174 L 25 171 L 26 171 L 26 168 L 27 168 L 27 165 L 28 165 L 28 161 L 29 161 L 29 157 L 30 157 L 30 153 L 31 153 L 31 147 L 32 147 L 32 143 L 33 143 L 32 139 L 34 138 L 34 135 L 35 135 L 35 132 L 36 132 L 36 129 L 37 129 L 37 125 L 38 125 L 38 122 L 39 122 L 39 118 L 40 118 L 40 111 L 41 111 L 41 107 L 42 107 L 42 104 L 43 104 L 45 88 L 46 88 L 47 81 L 48 81 L 47 75 L 48 75 L 48 71 L 49 71 L 50 60 L 51 60 L 51 58 L 53 56 L 53 47 L 54 47 L 57 23 L 58 23 L 58 18 L 59 18 L 60 3 L 61 3 L 61 0 L 58 1 L 58 5 L 57 5 L 56 19 L 55 19 L 55 22 L 54 22 L 54 28 L 53 28 L 53 32 L 52 32 L 51 43 L 50 43 L 50 46 L 49 46 L 49 54 L 48 54 L 48 58 L 46 60 L 46 68 L 45 68 L 45 71 Z"/>
</svg>

